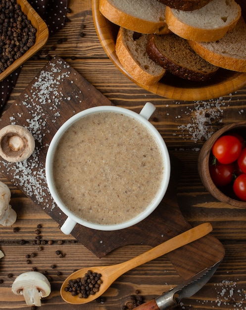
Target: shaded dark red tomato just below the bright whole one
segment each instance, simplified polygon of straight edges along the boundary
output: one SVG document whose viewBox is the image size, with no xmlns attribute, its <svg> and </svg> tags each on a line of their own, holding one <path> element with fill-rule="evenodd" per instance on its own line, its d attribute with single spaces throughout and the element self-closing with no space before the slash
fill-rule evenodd
<svg viewBox="0 0 246 310">
<path fill-rule="evenodd" d="M 225 186 L 232 182 L 235 170 L 234 163 L 222 164 L 216 162 L 209 166 L 209 173 L 213 183 L 218 186 Z"/>
</svg>

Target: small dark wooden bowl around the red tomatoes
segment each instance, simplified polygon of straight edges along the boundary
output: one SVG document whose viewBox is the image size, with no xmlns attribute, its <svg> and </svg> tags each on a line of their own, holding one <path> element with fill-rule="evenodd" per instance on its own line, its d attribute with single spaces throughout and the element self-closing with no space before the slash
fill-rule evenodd
<svg viewBox="0 0 246 310">
<path fill-rule="evenodd" d="M 246 202 L 238 200 L 234 193 L 232 185 L 228 185 L 224 189 L 218 189 L 213 183 L 209 173 L 209 156 L 211 154 L 211 148 L 214 142 L 222 135 L 229 133 L 239 133 L 245 136 L 246 133 L 246 122 L 233 123 L 225 126 L 215 132 L 202 146 L 198 156 L 198 173 L 201 181 L 207 191 L 216 199 L 221 202 L 230 204 L 234 207 L 246 208 Z M 226 193 L 226 194 L 225 194 Z"/>
</svg>

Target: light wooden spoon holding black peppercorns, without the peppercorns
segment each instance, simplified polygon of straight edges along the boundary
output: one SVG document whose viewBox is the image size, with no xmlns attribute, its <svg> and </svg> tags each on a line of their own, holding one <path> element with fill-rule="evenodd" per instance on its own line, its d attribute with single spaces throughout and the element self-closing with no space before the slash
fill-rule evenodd
<svg viewBox="0 0 246 310">
<path fill-rule="evenodd" d="M 126 271 L 129 271 L 152 259 L 158 258 L 166 253 L 169 253 L 188 243 L 191 243 L 207 235 L 211 231 L 212 231 L 211 224 L 203 223 L 125 262 L 110 266 L 85 267 L 79 269 L 73 272 L 70 276 L 68 276 L 66 280 L 62 283 L 60 289 L 61 297 L 65 302 L 73 305 L 89 303 L 98 298 L 99 296 L 101 296 L 109 288 L 109 286 Z M 79 298 L 78 295 L 72 296 L 70 292 L 64 291 L 64 288 L 67 286 L 69 280 L 83 278 L 83 276 L 85 275 L 85 273 L 87 273 L 88 270 L 101 274 L 100 279 L 102 281 L 102 284 L 100 285 L 99 291 L 95 295 L 89 295 L 88 298 Z"/>
</svg>

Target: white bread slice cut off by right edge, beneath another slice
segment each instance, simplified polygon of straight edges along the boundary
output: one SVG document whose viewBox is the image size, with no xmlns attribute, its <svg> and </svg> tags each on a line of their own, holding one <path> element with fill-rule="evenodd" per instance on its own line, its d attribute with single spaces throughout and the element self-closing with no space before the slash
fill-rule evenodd
<svg viewBox="0 0 246 310">
<path fill-rule="evenodd" d="M 246 23 L 243 17 L 231 32 L 214 42 L 189 41 L 202 58 L 228 70 L 246 72 Z"/>
</svg>

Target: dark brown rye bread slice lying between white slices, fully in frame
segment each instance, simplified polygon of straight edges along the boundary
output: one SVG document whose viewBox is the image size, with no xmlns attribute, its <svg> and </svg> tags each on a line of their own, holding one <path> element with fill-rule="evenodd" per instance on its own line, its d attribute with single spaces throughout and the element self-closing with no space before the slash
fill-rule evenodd
<svg viewBox="0 0 246 310">
<path fill-rule="evenodd" d="M 182 79 L 206 81 L 218 70 L 175 34 L 149 35 L 146 51 L 150 59 Z"/>
</svg>

